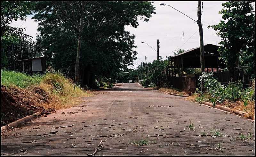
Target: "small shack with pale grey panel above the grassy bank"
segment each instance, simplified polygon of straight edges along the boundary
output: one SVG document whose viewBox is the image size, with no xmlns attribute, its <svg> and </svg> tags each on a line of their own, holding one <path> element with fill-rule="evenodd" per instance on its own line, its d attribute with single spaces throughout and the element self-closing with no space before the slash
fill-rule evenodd
<svg viewBox="0 0 256 157">
<path fill-rule="evenodd" d="M 22 62 L 23 72 L 27 71 L 29 74 L 33 74 L 34 72 L 43 73 L 46 71 L 46 61 L 44 57 L 30 58 L 20 61 Z"/>
</svg>

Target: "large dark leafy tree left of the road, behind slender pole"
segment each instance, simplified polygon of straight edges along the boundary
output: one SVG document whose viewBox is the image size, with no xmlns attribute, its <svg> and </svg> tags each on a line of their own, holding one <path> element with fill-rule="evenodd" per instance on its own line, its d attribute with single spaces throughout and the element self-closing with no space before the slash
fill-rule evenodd
<svg viewBox="0 0 256 157">
<path fill-rule="evenodd" d="M 76 26 L 62 22 L 51 12 L 49 2 L 38 2 L 35 19 L 39 21 L 37 46 L 52 60 L 57 69 L 72 77 Z M 89 3 L 89 2 L 87 2 Z M 90 2 L 91 3 L 91 2 Z M 125 25 L 137 27 L 138 20 L 148 21 L 154 12 L 151 2 L 92 2 L 92 13 L 84 13 L 82 21 L 79 77 L 81 84 L 93 84 L 95 76 L 111 77 L 120 68 L 132 65 L 137 52 L 133 50 L 135 36 L 125 31 Z M 50 8 L 49 8 L 50 7 Z M 84 11 L 89 5 L 84 6 Z M 54 11 L 54 10 L 53 10 Z M 84 81 L 83 81 L 84 80 Z"/>
</svg>

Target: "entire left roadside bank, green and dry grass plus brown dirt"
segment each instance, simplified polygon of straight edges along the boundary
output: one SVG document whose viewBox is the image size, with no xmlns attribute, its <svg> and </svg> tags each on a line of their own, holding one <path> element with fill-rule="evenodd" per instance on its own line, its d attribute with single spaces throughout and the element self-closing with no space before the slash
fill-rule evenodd
<svg viewBox="0 0 256 157">
<path fill-rule="evenodd" d="M 29 76 L 1 70 L 1 125 L 37 111 L 65 109 L 90 96 L 60 73 Z"/>
</svg>

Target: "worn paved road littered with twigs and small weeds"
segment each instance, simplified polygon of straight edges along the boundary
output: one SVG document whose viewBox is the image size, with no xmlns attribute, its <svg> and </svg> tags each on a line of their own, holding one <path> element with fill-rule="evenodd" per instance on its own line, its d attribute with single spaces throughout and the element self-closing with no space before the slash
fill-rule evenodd
<svg viewBox="0 0 256 157">
<path fill-rule="evenodd" d="M 15 153 L 22 146 L 29 155 L 85 155 L 93 153 L 100 140 L 104 150 L 98 155 L 255 153 L 254 121 L 183 97 L 142 89 L 136 83 L 119 83 L 114 89 L 92 93 L 77 107 L 34 119 L 5 133 L 1 136 L 1 153 Z M 190 120 L 194 125 L 192 130 Z M 220 137 L 211 133 L 215 128 L 220 130 Z M 52 131 L 58 132 L 44 135 Z M 209 136 L 202 137 L 204 131 Z M 251 139 L 238 139 L 239 133 L 248 132 L 252 133 Z M 133 144 L 142 135 L 148 137 L 148 145 Z"/>
</svg>

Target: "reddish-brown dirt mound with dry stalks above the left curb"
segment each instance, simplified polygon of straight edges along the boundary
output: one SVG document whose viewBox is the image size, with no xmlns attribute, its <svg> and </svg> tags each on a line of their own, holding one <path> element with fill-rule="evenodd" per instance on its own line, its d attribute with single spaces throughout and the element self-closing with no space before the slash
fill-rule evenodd
<svg viewBox="0 0 256 157">
<path fill-rule="evenodd" d="M 38 111 L 44 112 L 42 104 L 49 99 L 48 93 L 39 87 L 20 89 L 1 85 L 1 126 Z"/>
</svg>

